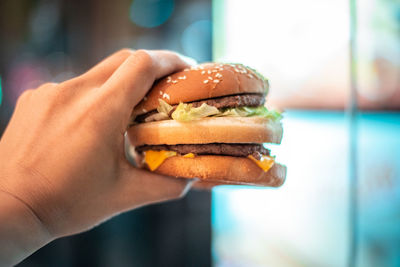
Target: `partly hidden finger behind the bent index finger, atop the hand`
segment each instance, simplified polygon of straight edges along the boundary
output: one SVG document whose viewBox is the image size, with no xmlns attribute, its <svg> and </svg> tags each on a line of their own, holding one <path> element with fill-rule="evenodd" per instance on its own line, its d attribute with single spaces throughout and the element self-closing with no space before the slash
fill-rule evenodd
<svg viewBox="0 0 400 267">
<path fill-rule="evenodd" d="M 96 66 L 88 70 L 81 77 L 90 84 L 102 85 L 118 69 L 118 67 L 132 54 L 133 50 L 122 49 L 108 56 Z"/>
</svg>

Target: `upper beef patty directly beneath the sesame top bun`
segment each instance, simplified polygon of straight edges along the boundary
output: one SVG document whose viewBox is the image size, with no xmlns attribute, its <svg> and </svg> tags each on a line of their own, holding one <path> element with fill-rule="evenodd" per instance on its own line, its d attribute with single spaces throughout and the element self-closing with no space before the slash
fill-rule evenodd
<svg viewBox="0 0 400 267">
<path fill-rule="evenodd" d="M 257 107 L 262 106 L 265 103 L 265 95 L 263 94 L 241 94 L 241 95 L 230 95 L 221 96 L 216 98 L 203 99 L 199 101 L 188 102 L 193 107 L 200 107 L 203 103 L 214 106 L 216 108 L 233 108 L 233 107 Z M 177 105 L 172 106 L 171 111 L 174 112 Z M 157 110 L 149 111 L 145 114 L 141 114 L 135 118 L 135 122 L 144 122 L 145 119 L 153 114 L 157 113 Z"/>
</svg>

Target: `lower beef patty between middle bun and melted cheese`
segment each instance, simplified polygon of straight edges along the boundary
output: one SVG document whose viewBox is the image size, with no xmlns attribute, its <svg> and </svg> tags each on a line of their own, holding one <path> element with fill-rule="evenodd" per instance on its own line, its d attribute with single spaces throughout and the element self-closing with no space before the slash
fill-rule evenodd
<svg viewBox="0 0 400 267">
<path fill-rule="evenodd" d="M 234 157 L 247 157 L 252 155 L 260 159 L 262 155 L 268 156 L 270 151 L 261 144 L 179 144 L 179 145 L 143 145 L 136 147 L 136 151 L 141 153 L 147 150 L 168 150 L 176 151 L 179 154 L 193 153 L 196 155 L 224 155 Z"/>
</svg>

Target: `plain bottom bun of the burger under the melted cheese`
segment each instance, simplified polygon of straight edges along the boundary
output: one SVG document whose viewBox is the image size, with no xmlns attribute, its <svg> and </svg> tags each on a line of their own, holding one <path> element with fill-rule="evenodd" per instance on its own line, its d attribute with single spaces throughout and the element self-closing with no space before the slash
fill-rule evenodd
<svg viewBox="0 0 400 267">
<path fill-rule="evenodd" d="M 154 172 L 184 178 L 200 178 L 212 184 L 242 184 L 278 187 L 286 178 L 286 167 L 275 163 L 265 172 L 244 157 L 204 155 L 166 159 Z"/>
</svg>

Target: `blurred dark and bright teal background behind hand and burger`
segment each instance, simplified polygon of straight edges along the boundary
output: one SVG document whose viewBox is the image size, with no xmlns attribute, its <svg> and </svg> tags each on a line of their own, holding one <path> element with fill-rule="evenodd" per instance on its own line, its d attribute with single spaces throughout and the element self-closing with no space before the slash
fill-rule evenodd
<svg viewBox="0 0 400 267">
<path fill-rule="evenodd" d="M 24 90 L 122 47 L 248 64 L 270 79 L 268 105 L 285 110 L 282 144 L 267 145 L 288 167 L 281 188 L 193 191 L 59 239 L 19 266 L 400 266 L 400 1 L 349 6 L 2 0 L 1 131 Z"/>
</svg>

